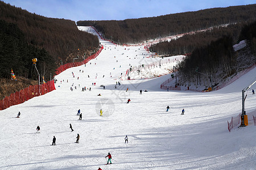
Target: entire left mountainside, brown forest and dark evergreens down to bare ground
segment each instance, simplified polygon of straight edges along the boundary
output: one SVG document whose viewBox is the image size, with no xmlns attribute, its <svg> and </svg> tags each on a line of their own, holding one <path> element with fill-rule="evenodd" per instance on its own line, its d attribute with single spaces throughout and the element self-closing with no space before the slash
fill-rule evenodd
<svg viewBox="0 0 256 170">
<path fill-rule="evenodd" d="M 37 58 L 36 67 L 45 80 L 55 74 L 55 69 L 73 62 L 77 55 L 88 57 L 97 50 L 98 37 L 79 31 L 71 20 L 46 18 L 31 14 L 0 1 L 0 97 L 37 83 L 37 71 L 32 58 Z M 78 50 L 79 49 L 79 50 Z M 79 58 L 83 60 L 82 57 Z M 77 59 L 76 61 L 79 61 Z M 11 81 L 11 69 L 18 76 Z"/>
</svg>

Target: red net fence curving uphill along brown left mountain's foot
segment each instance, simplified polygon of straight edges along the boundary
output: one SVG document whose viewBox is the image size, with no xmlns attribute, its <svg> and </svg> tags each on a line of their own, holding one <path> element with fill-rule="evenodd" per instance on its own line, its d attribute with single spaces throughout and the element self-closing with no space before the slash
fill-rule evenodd
<svg viewBox="0 0 256 170">
<path fill-rule="evenodd" d="M 65 65 L 60 66 L 59 68 L 57 68 L 57 71 L 55 71 L 55 74 L 60 74 L 61 72 L 71 68 L 71 67 L 76 67 L 76 66 L 81 66 L 84 65 L 85 63 L 89 62 L 91 59 L 94 59 L 98 56 L 98 54 L 101 53 L 103 49 L 103 46 L 101 46 L 101 48 L 98 50 L 98 52 L 96 52 L 95 54 L 93 54 L 92 56 L 86 58 L 84 61 L 80 61 L 80 62 L 73 62 L 73 63 L 66 63 Z"/>
</svg>

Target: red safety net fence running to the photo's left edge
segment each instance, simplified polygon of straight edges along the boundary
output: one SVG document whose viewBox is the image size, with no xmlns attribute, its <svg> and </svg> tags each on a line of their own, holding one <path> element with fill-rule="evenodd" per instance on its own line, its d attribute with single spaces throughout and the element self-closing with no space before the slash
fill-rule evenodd
<svg viewBox="0 0 256 170">
<path fill-rule="evenodd" d="M 0 100 L 0 110 L 9 108 L 12 105 L 23 103 L 24 101 L 30 100 L 33 97 L 47 94 L 50 91 L 55 90 L 54 80 L 51 80 L 40 86 L 34 85 L 24 88 L 23 90 L 16 91 L 14 94 L 5 97 Z"/>
</svg>

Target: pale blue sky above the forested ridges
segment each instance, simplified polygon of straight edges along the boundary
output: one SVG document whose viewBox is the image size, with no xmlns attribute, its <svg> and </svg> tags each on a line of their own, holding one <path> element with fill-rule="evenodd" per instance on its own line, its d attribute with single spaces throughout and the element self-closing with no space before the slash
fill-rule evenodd
<svg viewBox="0 0 256 170">
<path fill-rule="evenodd" d="M 254 4 L 255 0 L 3 0 L 29 12 L 50 18 L 124 20 L 213 7 Z"/>
</svg>

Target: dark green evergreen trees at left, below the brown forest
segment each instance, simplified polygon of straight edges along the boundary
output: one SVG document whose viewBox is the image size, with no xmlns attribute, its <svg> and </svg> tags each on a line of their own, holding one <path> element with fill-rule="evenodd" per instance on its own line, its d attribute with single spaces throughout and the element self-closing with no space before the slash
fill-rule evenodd
<svg viewBox="0 0 256 170">
<path fill-rule="evenodd" d="M 36 78 L 37 72 L 32 66 L 32 58 L 38 58 L 38 70 L 41 75 L 55 73 L 55 59 L 44 48 L 28 44 L 24 33 L 17 24 L 0 20 L 0 77 L 10 78 L 14 74 L 26 78 Z"/>
</svg>

